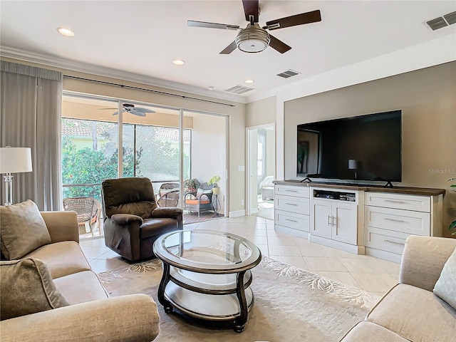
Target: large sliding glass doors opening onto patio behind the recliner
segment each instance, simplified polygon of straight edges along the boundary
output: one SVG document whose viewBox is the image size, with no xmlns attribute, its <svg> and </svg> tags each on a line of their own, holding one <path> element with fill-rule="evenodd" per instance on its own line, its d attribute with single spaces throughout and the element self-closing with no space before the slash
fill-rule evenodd
<svg viewBox="0 0 456 342">
<path fill-rule="evenodd" d="M 65 93 L 61 124 L 65 209 L 86 197 L 95 203 L 90 224 L 81 222 L 81 238 L 103 235 L 100 185 L 108 178 L 149 178 L 157 203 L 182 207 L 185 223 L 224 216 L 227 117 Z M 204 212 L 186 206 L 189 180 L 204 184 L 214 176 L 220 190 Z"/>
</svg>

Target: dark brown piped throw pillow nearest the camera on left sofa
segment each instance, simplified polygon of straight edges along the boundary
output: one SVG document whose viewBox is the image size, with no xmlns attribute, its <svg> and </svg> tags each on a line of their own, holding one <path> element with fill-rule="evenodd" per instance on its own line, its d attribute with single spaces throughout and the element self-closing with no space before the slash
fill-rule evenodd
<svg viewBox="0 0 456 342">
<path fill-rule="evenodd" d="M 68 306 L 38 259 L 0 261 L 1 320 Z"/>
</svg>

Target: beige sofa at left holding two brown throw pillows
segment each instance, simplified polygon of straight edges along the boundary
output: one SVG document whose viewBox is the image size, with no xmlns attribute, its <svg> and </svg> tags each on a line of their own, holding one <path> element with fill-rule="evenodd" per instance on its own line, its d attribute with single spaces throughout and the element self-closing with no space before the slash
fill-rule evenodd
<svg viewBox="0 0 456 342">
<path fill-rule="evenodd" d="M 157 306 L 150 296 L 108 298 L 79 247 L 76 212 L 41 212 L 51 244 L 24 258 L 46 264 L 69 306 L 0 322 L 8 341 L 152 341 L 158 334 Z M 23 258 L 23 259 L 24 259 Z M 1 293 L 1 296 L 8 294 Z"/>
</svg>

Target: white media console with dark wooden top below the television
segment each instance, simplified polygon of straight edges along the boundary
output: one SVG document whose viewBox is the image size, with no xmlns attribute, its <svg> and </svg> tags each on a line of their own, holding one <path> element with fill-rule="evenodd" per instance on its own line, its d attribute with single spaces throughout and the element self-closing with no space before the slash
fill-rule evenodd
<svg viewBox="0 0 456 342">
<path fill-rule="evenodd" d="M 442 236 L 442 189 L 274 184 L 275 229 L 317 244 L 400 262 L 409 235 Z"/>
</svg>

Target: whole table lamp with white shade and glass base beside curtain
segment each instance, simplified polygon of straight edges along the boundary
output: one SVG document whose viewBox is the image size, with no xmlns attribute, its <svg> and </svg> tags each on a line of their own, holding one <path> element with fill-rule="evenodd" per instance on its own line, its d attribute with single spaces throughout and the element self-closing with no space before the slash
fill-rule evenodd
<svg viewBox="0 0 456 342">
<path fill-rule="evenodd" d="M 11 173 L 31 172 L 30 147 L 0 147 L 0 173 L 5 182 L 5 205 L 13 204 L 13 176 Z"/>
</svg>

